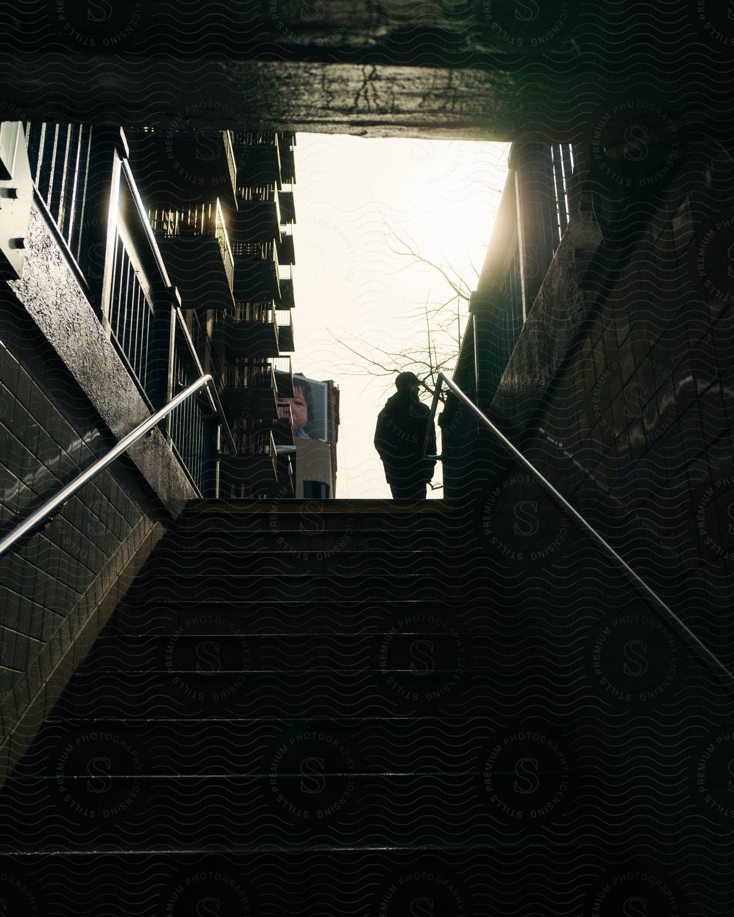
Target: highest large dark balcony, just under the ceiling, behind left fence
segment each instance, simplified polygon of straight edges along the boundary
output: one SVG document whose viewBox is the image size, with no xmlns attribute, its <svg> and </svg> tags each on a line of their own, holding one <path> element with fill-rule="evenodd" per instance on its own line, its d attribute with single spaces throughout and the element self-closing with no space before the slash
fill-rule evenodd
<svg viewBox="0 0 734 917">
<path fill-rule="evenodd" d="M 238 176 L 228 131 L 128 130 L 126 137 L 147 204 L 198 206 L 234 197 Z"/>
</svg>

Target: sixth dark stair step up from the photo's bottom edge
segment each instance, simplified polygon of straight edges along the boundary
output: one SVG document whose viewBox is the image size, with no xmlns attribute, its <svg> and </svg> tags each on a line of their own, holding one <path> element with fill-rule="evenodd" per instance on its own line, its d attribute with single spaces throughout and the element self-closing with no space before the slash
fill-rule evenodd
<svg viewBox="0 0 734 917">
<path fill-rule="evenodd" d="M 486 596 L 466 605 L 415 600 L 380 602 L 149 602 L 128 596 L 110 620 L 107 632 L 134 634 L 370 634 L 386 622 L 439 617 L 462 633 L 489 634 L 504 627 L 521 628 L 512 610 L 502 612 Z"/>
</svg>

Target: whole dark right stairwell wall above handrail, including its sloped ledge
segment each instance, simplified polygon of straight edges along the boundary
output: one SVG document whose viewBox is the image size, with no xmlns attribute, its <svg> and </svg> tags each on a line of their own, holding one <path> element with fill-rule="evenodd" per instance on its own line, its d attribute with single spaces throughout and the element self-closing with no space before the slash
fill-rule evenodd
<svg viewBox="0 0 734 917">
<path fill-rule="evenodd" d="M 734 162 L 688 140 L 659 180 L 632 179 L 586 171 L 594 213 L 572 219 L 490 416 L 731 666 Z M 586 539 L 551 519 L 539 565 L 562 576 Z"/>
</svg>

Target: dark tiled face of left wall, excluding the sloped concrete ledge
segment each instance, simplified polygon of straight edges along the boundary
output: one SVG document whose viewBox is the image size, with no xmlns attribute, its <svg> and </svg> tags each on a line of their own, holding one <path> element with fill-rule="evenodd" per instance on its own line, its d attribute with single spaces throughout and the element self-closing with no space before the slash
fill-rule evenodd
<svg viewBox="0 0 734 917">
<path fill-rule="evenodd" d="M 5 534 L 114 439 L 20 304 L 3 295 Z M 0 744 L 155 525 L 148 497 L 118 461 L 72 497 L 45 531 L 0 557 Z"/>
</svg>

